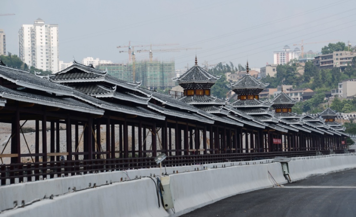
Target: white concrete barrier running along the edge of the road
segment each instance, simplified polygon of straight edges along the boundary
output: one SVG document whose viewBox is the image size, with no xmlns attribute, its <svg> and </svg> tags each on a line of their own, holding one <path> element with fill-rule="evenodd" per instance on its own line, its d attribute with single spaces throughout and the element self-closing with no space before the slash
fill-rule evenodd
<svg viewBox="0 0 356 217">
<path fill-rule="evenodd" d="M 261 162 L 264 162 L 263 164 Z M 230 162 L 209 164 L 207 170 L 201 165 L 167 168 L 167 173 L 179 171 L 171 177 L 171 191 L 176 213 L 158 207 L 155 186 L 149 178 L 129 182 L 114 183 L 66 195 L 46 199 L 15 210 L 5 211 L 3 216 L 179 216 L 196 208 L 216 202 L 223 198 L 253 190 L 272 187 L 275 182 L 286 183 L 280 163 L 254 161 L 246 165 L 230 166 Z M 254 164 L 256 163 L 256 164 Z M 225 164 L 226 167 L 221 168 Z M 231 163 L 232 164 L 232 163 Z M 218 168 L 212 168 L 214 165 Z M 199 171 L 197 168 L 199 167 Z M 308 176 L 328 173 L 356 167 L 356 155 L 328 155 L 294 158 L 289 162 L 292 181 Z M 194 171 L 194 168 L 196 171 Z M 183 172 L 183 171 L 190 172 Z M 163 169 L 164 171 L 164 169 Z M 268 175 L 268 171 L 271 176 Z M 159 168 L 127 171 L 130 178 L 159 173 Z M 13 201 L 25 199 L 28 202 L 33 195 L 61 194 L 68 188 L 87 188 L 89 182 L 97 185 L 106 181 L 118 181 L 126 177 L 124 172 L 105 172 L 53 180 L 38 181 L 0 187 L 0 204 L 12 207 Z M 28 198 L 28 199 L 26 199 Z"/>
</svg>

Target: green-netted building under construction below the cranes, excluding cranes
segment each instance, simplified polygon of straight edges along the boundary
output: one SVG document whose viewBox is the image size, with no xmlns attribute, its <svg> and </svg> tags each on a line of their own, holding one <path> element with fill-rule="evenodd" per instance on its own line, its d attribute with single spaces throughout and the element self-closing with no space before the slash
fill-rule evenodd
<svg viewBox="0 0 356 217">
<path fill-rule="evenodd" d="M 99 64 L 97 69 L 105 70 L 118 79 L 132 82 L 142 81 L 147 89 L 171 89 L 175 86 L 172 80 L 175 77 L 174 61 L 136 61 L 135 79 L 133 79 L 133 63 L 127 64 Z"/>
</svg>

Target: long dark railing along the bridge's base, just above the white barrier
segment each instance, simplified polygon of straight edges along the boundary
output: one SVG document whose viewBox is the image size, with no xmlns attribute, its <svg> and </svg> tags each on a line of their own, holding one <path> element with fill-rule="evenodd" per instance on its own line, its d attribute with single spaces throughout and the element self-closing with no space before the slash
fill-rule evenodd
<svg viewBox="0 0 356 217">
<path fill-rule="evenodd" d="M 329 150 L 320 151 L 326 155 Z M 343 153 L 336 150 L 334 153 Z M 255 153 L 233 153 L 233 154 L 207 154 L 207 155 L 183 155 L 167 156 L 162 162 L 163 166 L 183 166 L 195 164 L 218 163 L 228 161 L 248 161 L 270 159 L 276 156 L 303 157 L 317 155 L 317 151 L 290 151 L 290 152 L 255 152 Z M 83 175 L 86 173 L 106 172 L 112 170 L 126 170 L 157 167 L 154 157 L 142 158 L 116 158 L 116 159 L 94 159 L 94 160 L 72 160 L 72 161 L 49 161 L 35 163 L 16 163 L 0 165 L 1 185 L 15 183 L 15 179 L 21 182 L 30 182 L 41 179 L 52 179 L 55 177 Z M 26 180 L 24 180 L 26 178 Z"/>
</svg>

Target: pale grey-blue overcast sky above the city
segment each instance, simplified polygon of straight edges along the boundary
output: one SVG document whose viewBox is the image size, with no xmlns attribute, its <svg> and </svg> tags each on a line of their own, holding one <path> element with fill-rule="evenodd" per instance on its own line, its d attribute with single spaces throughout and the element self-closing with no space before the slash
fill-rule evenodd
<svg viewBox="0 0 356 217">
<path fill-rule="evenodd" d="M 201 48 L 172 53 L 153 53 L 159 60 L 176 62 L 176 69 L 194 64 L 232 62 L 250 67 L 273 63 L 273 51 L 292 49 L 308 42 L 349 40 L 356 44 L 354 0 L 189 0 L 189 1 L 16 1 L 0 0 L 0 29 L 7 37 L 7 51 L 18 51 L 22 24 L 41 18 L 59 25 L 59 59 L 82 61 L 85 57 L 128 61 L 117 46 L 179 44 L 154 47 Z M 333 41 L 336 42 L 336 41 Z M 305 51 L 321 51 L 328 42 L 309 44 Z M 137 48 L 137 49 L 149 49 Z M 136 49 L 136 50 L 137 50 Z M 148 53 L 136 54 L 148 59 Z"/>
</svg>

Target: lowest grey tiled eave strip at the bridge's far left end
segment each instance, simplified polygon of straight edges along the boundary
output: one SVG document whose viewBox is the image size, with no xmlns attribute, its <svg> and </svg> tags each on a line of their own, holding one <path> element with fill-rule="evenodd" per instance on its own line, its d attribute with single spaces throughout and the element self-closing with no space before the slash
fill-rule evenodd
<svg viewBox="0 0 356 217">
<path fill-rule="evenodd" d="M 91 114 L 104 114 L 104 110 L 74 100 L 70 97 L 58 98 L 52 95 L 49 96 L 37 95 L 37 94 L 11 90 L 5 88 L 4 86 L 0 86 L 0 96 L 6 99 L 12 99 L 12 100 L 28 102 L 28 103 L 35 103 L 39 105 L 54 106 L 54 107 L 73 110 L 73 111 L 80 111 L 80 112 L 91 113 Z"/>
</svg>

